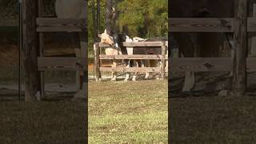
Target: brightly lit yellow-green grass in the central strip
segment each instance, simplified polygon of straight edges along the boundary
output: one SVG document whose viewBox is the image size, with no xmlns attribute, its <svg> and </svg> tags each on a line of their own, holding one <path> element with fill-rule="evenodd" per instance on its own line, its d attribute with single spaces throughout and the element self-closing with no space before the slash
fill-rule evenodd
<svg viewBox="0 0 256 144">
<path fill-rule="evenodd" d="M 90 143 L 167 143 L 167 81 L 90 82 Z"/>
</svg>

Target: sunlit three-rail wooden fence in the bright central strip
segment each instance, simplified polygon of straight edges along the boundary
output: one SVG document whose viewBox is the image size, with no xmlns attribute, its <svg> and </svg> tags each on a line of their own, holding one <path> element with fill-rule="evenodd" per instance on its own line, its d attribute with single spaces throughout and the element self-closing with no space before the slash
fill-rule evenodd
<svg viewBox="0 0 256 144">
<path fill-rule="evenodd" d="M 104 43 L 95 43 L 94 45 L 94 68 L 96 73 L 96 81 L 101 78 L 101 71 L 109 72 L 155 72 L 160 73 L 161 78 L 165 77 L 168 68 L 166 68 L 166 42 L 123 42 L 122 46 L 126 47 L 145 47 L 145 48 L 161 48 L 162 54 L 133 54 L 133 55 L 106 55 L 101 54 L 101 49 L 110 47 Z M 144 60 L 160 60 L 160 67 L 103 67 L 101 66 L 101 60 L 122 60 L 122 59 L 144 59 Z"/>
</svg>

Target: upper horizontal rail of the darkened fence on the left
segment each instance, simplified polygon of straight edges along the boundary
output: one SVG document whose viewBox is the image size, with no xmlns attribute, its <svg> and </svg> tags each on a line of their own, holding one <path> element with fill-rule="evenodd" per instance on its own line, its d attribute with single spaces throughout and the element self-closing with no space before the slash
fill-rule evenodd
<svg viewBox="0 0 256 144">
<path fill-rule="evenodd" d="M 86 29 L 83 18 L 37 18 L 38 32 L 82 32 Z"/>
</svg>

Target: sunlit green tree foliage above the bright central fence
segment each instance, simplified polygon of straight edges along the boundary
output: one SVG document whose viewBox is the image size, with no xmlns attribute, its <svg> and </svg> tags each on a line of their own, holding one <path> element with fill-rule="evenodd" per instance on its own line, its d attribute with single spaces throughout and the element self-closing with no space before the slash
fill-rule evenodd
<svg viewBox="0 0 256 144">
<path fill-rule="evenodd" d="M 156 37 L 167 34 L 167 0 L 123 0 L 118 3 L 118 25 L 128 26 L 130 34 L 141 37 Z"/>
</svg>

